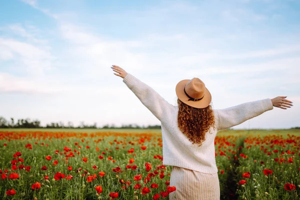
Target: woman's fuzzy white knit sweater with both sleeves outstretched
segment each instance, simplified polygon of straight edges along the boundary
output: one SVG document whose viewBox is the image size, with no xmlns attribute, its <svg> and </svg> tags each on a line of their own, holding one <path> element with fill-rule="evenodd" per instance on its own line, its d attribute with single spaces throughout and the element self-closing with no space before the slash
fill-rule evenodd
<svg viewBox="0 0 300 200">
<path fill-rule="evenodd" d="M 232 127 L 243 121 L 273 109 L 269 98 L 242 103 L 225 109 L 214 109 L 215 130 L 210 128 L 201 146 L 192 144 L 183 134 L 177 123 L 178 106 L 168 103 L 152 87 L 140 81 L 132 74 L 127 74 L 123 82 L 137 98 L 161 122 L 163 164 L 215 173 L 214 138 L 217 130 Z"/>
</svg>

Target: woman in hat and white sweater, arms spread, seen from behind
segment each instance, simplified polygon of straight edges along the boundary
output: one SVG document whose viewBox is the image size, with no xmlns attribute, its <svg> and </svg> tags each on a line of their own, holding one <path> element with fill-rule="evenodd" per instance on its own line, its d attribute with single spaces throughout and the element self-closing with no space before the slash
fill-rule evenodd
<svg viewBox="0 0 300 200">
<path fill-rule="evenodd" d="M 163 164 L 173 166 L 170 185 L 176 187 L 170 199 L 220 199 L 214 151 L 216 132 L 273 106 L 282 109 L 292 106 L 286 96 L 278 96 L 212 110 L 210 92 L 199 78 L 177 83 L 178 106 L 173 106 L 121 67 L 111 68 L 161 122 Z"/>
</svg>

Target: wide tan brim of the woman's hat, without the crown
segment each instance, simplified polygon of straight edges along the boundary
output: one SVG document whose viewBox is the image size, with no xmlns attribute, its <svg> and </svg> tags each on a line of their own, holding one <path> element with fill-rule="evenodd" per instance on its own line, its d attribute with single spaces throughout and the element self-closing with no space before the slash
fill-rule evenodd
<svg viewBox="0 0 300 200">
<path fill-rule="evenodd" d="M 207 107 L 210 104 L 211 101 L 211 94 L 209 90 L 205 87 L 204 91 L 204 97 L 201 100 L 198 101 L 193 101 L 193 100 L 188 100 L 189 98 L 185 95 L 184 93 L 184 86 L 186 83 L 189 81 L 189 79 L 184 79 L 181 80 L 177 83 L 176 85 L 176 95 L 181 100 L 183 103 L 195 107 L 195 108 L 204 108 Z"/>
</svg>

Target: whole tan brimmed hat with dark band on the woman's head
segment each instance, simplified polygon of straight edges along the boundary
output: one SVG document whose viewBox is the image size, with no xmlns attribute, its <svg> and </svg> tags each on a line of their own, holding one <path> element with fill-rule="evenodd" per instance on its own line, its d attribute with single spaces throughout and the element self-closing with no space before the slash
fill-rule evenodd
<svg viewBox="0 0 300 200">
<path fill-rule="evenodd" d="M 184 79 L 176 85 L 176 95 L 183 103 L 195 107 L 207 107 L 211 101 L 211 94 L 199 78 Z"/>
</svg>

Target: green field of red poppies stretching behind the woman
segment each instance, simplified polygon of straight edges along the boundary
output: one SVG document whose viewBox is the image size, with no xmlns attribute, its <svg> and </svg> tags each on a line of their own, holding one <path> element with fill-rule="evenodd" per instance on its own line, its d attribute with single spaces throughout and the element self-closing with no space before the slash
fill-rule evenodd
<svg viewBox="0 0 300 200">
<path fill-rule="evenodd" d="M 299 130 L 223 130 L 214 144 L 220 199 L 299 199 Z M 0 199 L 168 199 L 162 160 L 159 130 L 1 129 Z"/>
</svg>

